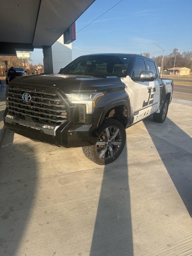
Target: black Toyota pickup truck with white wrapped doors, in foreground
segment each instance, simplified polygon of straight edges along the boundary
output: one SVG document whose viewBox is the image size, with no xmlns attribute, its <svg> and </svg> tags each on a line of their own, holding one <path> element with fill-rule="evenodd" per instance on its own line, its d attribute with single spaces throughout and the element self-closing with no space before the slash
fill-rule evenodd
<svg viewBox="0 0 192 256">
<path fill-rule="evenodd" d="M 6 92 L 6 128 L 35 141 L 82 147 L 104 165 L 121 154 L 129 126 L 153 115 L 164 122 L 173 81 L 138 54 L 81 56 L 59 74 L 12 80 Z"/>
</svg>

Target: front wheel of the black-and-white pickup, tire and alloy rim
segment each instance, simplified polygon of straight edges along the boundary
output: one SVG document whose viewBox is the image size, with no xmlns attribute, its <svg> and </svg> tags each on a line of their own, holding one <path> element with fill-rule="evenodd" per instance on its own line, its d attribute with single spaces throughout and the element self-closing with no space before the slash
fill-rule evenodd
<svg viewBox="0 0 192 256">
<path fill-rule="evenodd" d="M 114 162 L 126 142 L 124 126 L 112 118 L 105 118 L 98 134 L 100 135 L 95 145 L 82 147 L 85 156 L 100 165 Z"/>
</svg>

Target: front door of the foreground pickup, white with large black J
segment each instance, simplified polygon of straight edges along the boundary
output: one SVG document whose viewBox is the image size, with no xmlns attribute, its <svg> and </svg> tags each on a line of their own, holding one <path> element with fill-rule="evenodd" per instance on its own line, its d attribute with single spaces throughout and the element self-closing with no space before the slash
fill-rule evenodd
<svg viewBox="0 0 192 256">
<path fill-rule="evenodd" d="M 134 94 L 132 99 L 134 123 L 149 115 L 148 105 L 152 100 L 152 84 L 137 80 L 137 78 L 140 78 L 140 73 L 146 70 L 148 68 L 146 67 L 144 58 L 140 56 L 136 57 L 132 70 L 132 80 L 134 81 L 134 85 L 132 86 L 132 92 Z"/>
</svg>

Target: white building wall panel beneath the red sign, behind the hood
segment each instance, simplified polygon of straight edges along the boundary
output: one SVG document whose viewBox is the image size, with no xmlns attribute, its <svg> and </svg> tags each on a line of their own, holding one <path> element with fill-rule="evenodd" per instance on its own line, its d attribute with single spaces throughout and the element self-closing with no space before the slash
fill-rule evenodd
<svg viewBox="0 0 192 256">
<path fill-rule="evenodd" d="M 72 61 L 72 44 L 64 44 L 63 35 L 52 45 L 52 60 L 54 73 Z"/>
</svg>

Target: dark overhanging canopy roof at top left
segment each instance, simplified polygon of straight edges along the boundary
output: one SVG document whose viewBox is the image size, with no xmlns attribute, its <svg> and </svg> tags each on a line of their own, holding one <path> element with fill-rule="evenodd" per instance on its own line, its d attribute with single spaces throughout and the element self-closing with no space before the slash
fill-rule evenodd
<svg viewBox="0 0 192 256">
<path fill-rule="evenodd" d="M 93 2 L 1 0 L 0 55 L 52 46 Z"/>
</svg>

